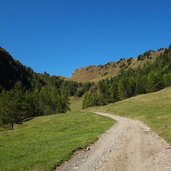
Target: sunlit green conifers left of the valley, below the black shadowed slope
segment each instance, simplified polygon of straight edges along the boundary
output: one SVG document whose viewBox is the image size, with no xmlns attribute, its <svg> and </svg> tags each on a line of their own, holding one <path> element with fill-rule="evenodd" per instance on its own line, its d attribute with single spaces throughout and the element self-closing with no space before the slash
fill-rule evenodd
<svg viewBox="0 0 171 171">
<path fill-rule="evenodd" d="M 45 74 L 46 75 L 46 74 Z M 65 113 L 70 110 L 70 96 L 81 97 L 91 83 L 65 81 L 59 77 L 45 76 L 45 85 L 26 89 L 17 82 L 10 90 L 0 93 L 0 125 L 22 123 L 42 115 Z"/>
</svg>

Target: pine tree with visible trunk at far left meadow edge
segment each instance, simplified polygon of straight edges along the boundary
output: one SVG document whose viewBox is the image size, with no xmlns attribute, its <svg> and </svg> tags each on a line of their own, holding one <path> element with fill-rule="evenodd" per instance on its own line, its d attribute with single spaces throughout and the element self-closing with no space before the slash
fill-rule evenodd
<svg viewBox="0 0 171 171">
<path fill-rule="evenodd" d="M 1 122 L 11 124 L 21 123 L 27 116 L 27 104 L 21 83 L 17 82 L 10 91 L 3 91 L 0 96 Z"/>
</svg>

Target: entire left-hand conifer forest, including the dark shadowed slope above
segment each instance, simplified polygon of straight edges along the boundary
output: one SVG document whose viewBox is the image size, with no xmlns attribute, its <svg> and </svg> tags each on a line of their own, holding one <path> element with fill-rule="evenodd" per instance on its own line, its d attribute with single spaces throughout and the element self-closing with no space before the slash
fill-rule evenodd
<svg viewBox="0 0 171 171">
<path fill-rule="evenodd" d="M 35 116 L 64 113 L 69 97 L 82 96 L 91 85 L 35 73 L 0 48 L 0 125 L 13 128 Z"/>
</svg>

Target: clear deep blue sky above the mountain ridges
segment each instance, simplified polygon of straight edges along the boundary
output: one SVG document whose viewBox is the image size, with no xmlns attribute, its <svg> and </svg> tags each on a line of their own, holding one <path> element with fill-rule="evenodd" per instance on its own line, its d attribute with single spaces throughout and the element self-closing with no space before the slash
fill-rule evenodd
<svg viewBox="0 0 171 171">
<path fill-rule="evenodd" d="M 36 72 L 136 57 L 171 44 L 170 0 L 0 0 L 0 46 Z"/>
</svg>

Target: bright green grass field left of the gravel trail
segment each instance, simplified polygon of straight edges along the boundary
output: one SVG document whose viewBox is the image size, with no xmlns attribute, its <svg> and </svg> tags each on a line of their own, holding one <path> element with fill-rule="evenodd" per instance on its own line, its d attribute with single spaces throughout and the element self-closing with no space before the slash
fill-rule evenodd
<svg viewBox="0 0 171 171">
<path fill-rule="evenodd" d="M 0 132 L 0 170 L 52 170 L 97 140 L 113 120 L 89 112 L 42 116 Z"/>
</svg>

